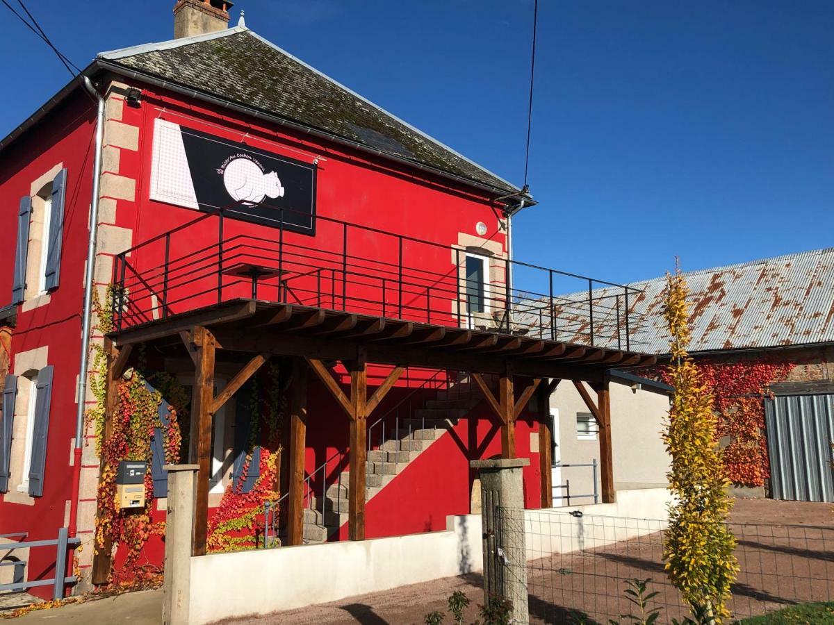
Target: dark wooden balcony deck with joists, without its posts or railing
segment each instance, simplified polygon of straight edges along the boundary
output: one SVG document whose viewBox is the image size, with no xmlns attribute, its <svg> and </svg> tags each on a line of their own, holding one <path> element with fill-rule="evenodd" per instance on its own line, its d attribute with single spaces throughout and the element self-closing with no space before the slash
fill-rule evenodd
<svg viewBox="0 0 834 625">
<path fill-rule="evenodd" d="M 601 382 L 612 367 L 638 367 L 655 357 L 513 334 L 372 317 L 284 303 L 235 300 L 114 333 L 117 347 L 153 343 L 183 349 L 178 334 L 203 326 L 218 349 L 235 353 L 353 360 L 476 373 Z"/>
</svg>

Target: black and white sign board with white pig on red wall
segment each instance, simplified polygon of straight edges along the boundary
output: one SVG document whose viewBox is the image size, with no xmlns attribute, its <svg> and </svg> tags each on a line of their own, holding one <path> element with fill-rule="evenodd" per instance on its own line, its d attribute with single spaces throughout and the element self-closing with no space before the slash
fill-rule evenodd
<svg viewBox="0 0 834 625">
<path fill-rule="evenodd" d="M 315 233 L 316 166 L 157 120 L 151 197 Z"/>
</svg>

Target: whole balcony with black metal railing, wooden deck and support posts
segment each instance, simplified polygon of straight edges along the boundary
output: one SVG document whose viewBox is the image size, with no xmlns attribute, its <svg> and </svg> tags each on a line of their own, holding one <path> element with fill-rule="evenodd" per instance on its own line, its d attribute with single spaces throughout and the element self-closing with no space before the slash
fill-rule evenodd
<svg viewBox="0 0 834 625">
<path fill-rule="evenodd" d="M 408 367 L 468 372 L 500 425 L 505 458 L 515 458 L 515 421 L 539 394 L 545 507 L 552 505 L 550 393 L 561 380 L 572 381 L 599 423 L 603 501 L 613 501 L 607 372 L 655 362 L 631 349 L 636 289 L 510 261 L 490 241 L 483 249 L 450 247 L 322 217 L 315 238 L 285 231 L 283 215 L 277 228 L 228 222 L 222 213 L 205 214 L 119 254 L 113 271 L 108 414 L 134 346 L 193 361 L 189 456 L 200 467 L 194 555 L 206 551 L 213 414 L 271 357 L 290 358 L 293 368 L 290 544 L 302 536 L 309 373 L 349 420 L 352 540 L 364 538 L 368 419 Z M 481 263 L 475 276 L 466 260 L 473 256 Z M 216 360 L 240 366 L 215 397 Z M 329 371 L 334 361 L 349 372 L 349 392 Z M 368 363 L 390 366 L 373 393 Z M 498 378 L 497 395 L 486 373 Z M 95 579 L 109 571 L 104 547 Z"/>
</svg>

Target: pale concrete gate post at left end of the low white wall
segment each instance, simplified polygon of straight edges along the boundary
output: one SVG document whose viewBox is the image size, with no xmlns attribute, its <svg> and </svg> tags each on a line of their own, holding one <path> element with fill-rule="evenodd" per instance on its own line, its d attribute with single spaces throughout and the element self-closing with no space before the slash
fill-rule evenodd
<svg viewBox="0 0 834 625">
<path fill-rule="evenodd" d="M 188 625 L 193 544 L 194 475 L 198 464 L 166 464 L 168 507 L 165 517 L 165 571 L 162 622 Z"/>
</svg>

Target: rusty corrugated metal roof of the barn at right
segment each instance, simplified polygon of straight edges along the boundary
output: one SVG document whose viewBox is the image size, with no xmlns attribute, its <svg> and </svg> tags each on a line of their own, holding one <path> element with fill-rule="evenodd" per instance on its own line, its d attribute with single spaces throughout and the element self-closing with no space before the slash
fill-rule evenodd
<svg viewBox="0 0 834 625">
<path fill-rule="evenodd" d="M 691 292 L 691 352 L 834 342 L 834 248 L 684 275 Z M 670 337 L 663 319 L 666 278 L 629 286 L 643 292 L 629 305 L 631 348 L 644 353 L 668 353 Z M 592 297 L 595 302 L 605 301 L 621 291 L 595 289 Z M 577 303 L 584 299 L 587 307 L 587 292 L 560 298 Z M 599 336 L 616 337 L 613 315 L 603 317 L 601 307 L 595 311 L 600 317 L 595 324 Z M 557 315 L 557 323 L 575 327 L 579 319 L 570 319 L 562 312 Z M 622 323 L 620 320 L 620 329 Z M 615 347 L 614 343 L 615 338 L 595 340 L 597 347 Z"/>
</svg>

